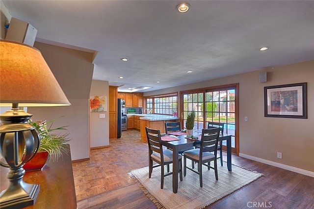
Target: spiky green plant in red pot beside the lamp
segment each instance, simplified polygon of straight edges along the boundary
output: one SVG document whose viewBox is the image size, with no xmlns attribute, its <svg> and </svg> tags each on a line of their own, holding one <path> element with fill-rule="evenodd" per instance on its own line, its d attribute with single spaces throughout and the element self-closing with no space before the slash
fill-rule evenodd
<svg viewBox="0 0 314 209">
<path fill-rule="evenodd" d="M 53 122 L 57 119 L 53 119 L 49 122 L 29 121 L 38 131 L 41 140 L 36 155 L 24 165 L 26 171 L 41 170 L 45 166 L 48 157 L 50 157 L 50 160 L 57 160 L 62 154 L 68 154 L 68 149 L 64 144 L 71 140 L 68 137 L 69 133 L 61 134 L 54 132 L 57 130 L 66 130 L 65 128 L 67 126 L 52 128 Z M 49 128 L 47 128 L 47 126 L 49 126 Z"/>
</svg>

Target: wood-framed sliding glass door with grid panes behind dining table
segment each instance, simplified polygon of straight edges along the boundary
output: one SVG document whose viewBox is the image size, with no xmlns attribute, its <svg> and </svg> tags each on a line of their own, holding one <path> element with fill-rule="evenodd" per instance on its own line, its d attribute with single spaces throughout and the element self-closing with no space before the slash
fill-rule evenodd
<svg viewBox="0 0 314 209">
<path fill-rule="evenodd" d="M 196 112 L 194 129 L 207 128 L 208 122 L 224 123 L 224 133 L 232 135 L 232 152 L 238 155 L 237 92 L 238 84 L 181 92 L 183 126 L 191 111 Z"/>
</svg>

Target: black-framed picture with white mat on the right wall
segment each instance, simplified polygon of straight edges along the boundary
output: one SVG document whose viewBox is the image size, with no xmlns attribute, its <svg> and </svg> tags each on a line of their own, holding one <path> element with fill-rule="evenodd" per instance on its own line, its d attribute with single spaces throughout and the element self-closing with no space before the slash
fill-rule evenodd
<svg viewBox="0 0 314 209">
<path fill-rule="evenodd" d="M 264 116 L 307 119 L 307 83 L 265 86 Z"/>
</svg>

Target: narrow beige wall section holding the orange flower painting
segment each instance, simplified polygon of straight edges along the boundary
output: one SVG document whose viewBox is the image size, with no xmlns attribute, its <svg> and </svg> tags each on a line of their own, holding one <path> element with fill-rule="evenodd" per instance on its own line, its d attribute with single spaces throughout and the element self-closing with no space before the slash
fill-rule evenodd
<svg viewBox="0 0 314 209">
<path fill-rule="evenodd" d="M 90 146 L 102 147 L 109 145 L 109 82 L 92 80 L 90 96 L 107 97 L 107 111 L 90 113 Z M 105 114 L 105 118 L 99 118 L 99 114 Z"/>
</svg>

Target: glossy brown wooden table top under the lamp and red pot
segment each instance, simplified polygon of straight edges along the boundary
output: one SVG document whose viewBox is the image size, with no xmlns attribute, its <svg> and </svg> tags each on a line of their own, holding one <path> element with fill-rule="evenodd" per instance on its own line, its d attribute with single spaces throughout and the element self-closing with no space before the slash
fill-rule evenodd
<svg viewBox="0 0 314 209">
<path fill-rule="evenodd" d="M 70 145 L 68 146 L 70 150 Z M 7 188 L 8 168 L 0 166 L 0 190 Z M 57 162 L 47 161 L 42 171 L 29 171 L 23 177 L 26 183 L 40 185 L 35 204 L 25 209 L 77 209 L 71 153 L 63 154 Z"/>
</svg>

